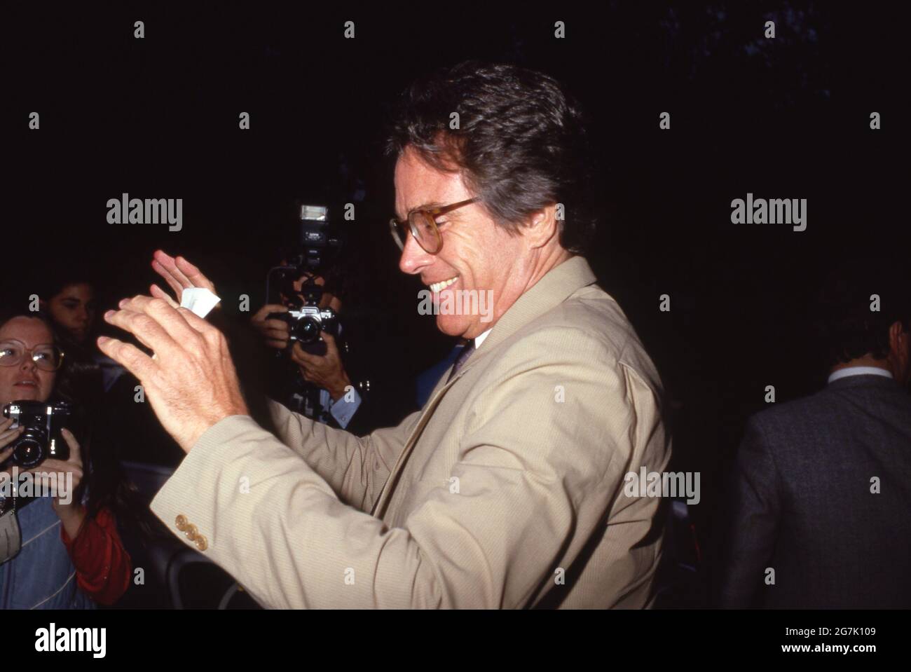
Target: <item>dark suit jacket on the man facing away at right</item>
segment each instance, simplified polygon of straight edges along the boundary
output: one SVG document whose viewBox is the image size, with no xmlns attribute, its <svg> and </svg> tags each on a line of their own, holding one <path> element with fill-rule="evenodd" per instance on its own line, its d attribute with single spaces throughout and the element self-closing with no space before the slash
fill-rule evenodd
<svg viewBox="0 0 911 672">
<path fill-rule="evenodd" d="M 858 375 L 757 413 L 729 504 L 722 606 L 911 606 L 911 397 Z"/>
</svg>

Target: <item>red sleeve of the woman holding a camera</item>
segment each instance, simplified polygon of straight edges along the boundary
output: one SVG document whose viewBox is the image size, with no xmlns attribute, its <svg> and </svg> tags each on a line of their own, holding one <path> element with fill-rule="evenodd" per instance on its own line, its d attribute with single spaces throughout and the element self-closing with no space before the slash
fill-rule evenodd
<svg viewBox="0 0 911 672">
<path fill-rule="evenodd" d="M 100 605 L 113 605 L 127 592 L 132 566 L 108 509 L 87 517 L 75 540 L 60 525 L 60 539 L 76 567 L 77 585 L 89 597 Z"/>
</svg>

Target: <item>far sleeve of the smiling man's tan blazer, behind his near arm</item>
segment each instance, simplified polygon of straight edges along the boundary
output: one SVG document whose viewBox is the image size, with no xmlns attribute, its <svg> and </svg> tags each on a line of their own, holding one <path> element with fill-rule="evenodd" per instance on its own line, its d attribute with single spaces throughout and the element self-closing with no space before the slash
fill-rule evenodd
<svg viewBox="0 0 911 672">
<path fill-rule="evenodd" d="M 358 437 L 315 423 L 279 402 L 270 401 L 269 411 L 279 441 L 300 455 L 340 500 L 361 511 L 373 508 L 419 415 Z"/>
</svg>

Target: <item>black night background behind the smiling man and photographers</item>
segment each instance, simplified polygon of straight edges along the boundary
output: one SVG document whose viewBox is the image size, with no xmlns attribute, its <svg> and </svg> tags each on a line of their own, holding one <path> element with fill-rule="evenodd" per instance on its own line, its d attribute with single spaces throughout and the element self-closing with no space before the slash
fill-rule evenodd
<svg viewBox="0 0 911 672">
<path fill-rule="evenodd" d="M 88 263 L 108 303 L 148 293 L 160 247 L 200 265 L 229 311 L 241 293 L 255 311 L 288 203 L 352 201 L 346 253 L 363 289 L 346 311 L 370 321 L 384 393 L 408 394 L 451 341 L 397 269 L 387 111 L 416 76 L 469 57 L 543 70 L 595 120 L 607 173 L 589 259 L 666 384 L 671 467 L 701 473 L 703 545 L 765 386 L 782 402 L 824 382 L 806 329 L 820 275 L 858 251 L 907 257 L 906 22 L 890 5 L 92 6 L 5 7 L 4 290 Z M 184 199 L 183 230 L 107 224 L 122 192 Z M 747 192 L 807 199 L 807 229 L 732 225 Z"/>
</svg>

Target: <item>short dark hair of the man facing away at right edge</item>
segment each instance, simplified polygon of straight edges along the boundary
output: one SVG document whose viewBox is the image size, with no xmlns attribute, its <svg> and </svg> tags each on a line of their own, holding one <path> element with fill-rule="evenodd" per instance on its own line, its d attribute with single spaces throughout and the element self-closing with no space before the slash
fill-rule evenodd
<svg viewBox="0 0 911 672">
<path fill-rule="evenodd" d="M 829 366 L 867 354 L 882 360 L 889 353 L 889 328 L 911 328 L 908 278 L 884 259 L 850 260 L 829 273 L 814 306 L 816 335 Z M 871 305 L 876 295 L 878 311 Z"/>
</svg>

